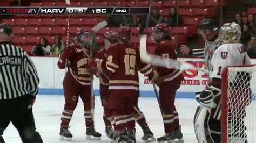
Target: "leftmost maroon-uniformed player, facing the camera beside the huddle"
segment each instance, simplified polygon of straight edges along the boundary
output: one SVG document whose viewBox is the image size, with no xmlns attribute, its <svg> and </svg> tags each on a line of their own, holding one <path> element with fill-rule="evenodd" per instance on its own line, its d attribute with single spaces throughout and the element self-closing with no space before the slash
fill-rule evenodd
<svg viewBox="0 0 256 143">
<path fill-rule="evenodd" d="M 67 68 L 63 80 L 65 106 L 62 112 L 60 139 L 71 140 L 72 134 L 68 130 L 69 123 L 75 110 L 78 97 L 84 103 L 84 118 L 86 124 L 86 139 L 100 140 L 101 134 L 95 131 L 93 121 L 94 97 L 91 96 L 92 76 L 88 71 L 90 62 L 91 34 L 84 28 L 77 33 L 79 44 L 68 46 L 59 56 L 58 67 Z"/>
</svg>

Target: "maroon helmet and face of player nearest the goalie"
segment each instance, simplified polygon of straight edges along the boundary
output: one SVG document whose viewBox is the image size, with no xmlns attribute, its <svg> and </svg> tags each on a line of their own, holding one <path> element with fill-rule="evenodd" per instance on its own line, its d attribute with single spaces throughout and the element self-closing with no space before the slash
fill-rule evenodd
<svg viewBox="0 0 256 143">
<path fill-rule="evenodd" d="M 158 42 L 161 39 L 170 39 L 170 26 L 166 23 L 159 23 L 152 28 L 151 39 Z"/>
</svg>

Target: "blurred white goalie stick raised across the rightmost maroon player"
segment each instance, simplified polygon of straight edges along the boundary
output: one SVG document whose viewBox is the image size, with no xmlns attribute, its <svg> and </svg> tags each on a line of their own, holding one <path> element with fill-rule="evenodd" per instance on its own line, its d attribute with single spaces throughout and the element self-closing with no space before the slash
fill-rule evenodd
<svg viewBox="0 0 256 143">
<path fill-rule="evenodd" d="M 209 73 L 208 70 L 196 68 L 189 63 L 184 63 L 184 62 L 180 62 L 170 58 L 165 58 L 163 56 L 152 55 L 147 53 L 146 40 L 147 40 L 147 35 L 146 34 L 141 35 L 140 42 L 139 42 L 139 53 L 140 53 L 140 59 L 143 62 L 150 63 L 151 65 L 154 65 L 154 66 L 160 66 L 160 67 L 165 67 L 169 69 L 172 68 L 172 69 L 179 69 L 179 70 L 197 70 L 197 71 L 203 71 L 204 73 Z"/>
</svg>

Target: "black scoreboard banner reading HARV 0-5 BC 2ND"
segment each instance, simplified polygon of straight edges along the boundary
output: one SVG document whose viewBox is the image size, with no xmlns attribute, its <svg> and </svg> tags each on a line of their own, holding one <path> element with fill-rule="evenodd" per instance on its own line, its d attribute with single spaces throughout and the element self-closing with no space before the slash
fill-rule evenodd
<svg viewBox="0 0 256 143">
<path fill-rule="evenodd" d="M 147 15 L 149 7 L 0 7 L 0 15 Z"/>
</svg>

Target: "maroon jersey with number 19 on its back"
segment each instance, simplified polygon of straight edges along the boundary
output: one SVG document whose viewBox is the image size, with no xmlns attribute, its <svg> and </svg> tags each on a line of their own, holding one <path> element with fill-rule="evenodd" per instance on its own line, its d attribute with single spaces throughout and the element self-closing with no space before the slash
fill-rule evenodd
<svg viewBox="0 0 256 143">
<path fill-rule="evenodd" d="M 139 51 L 130 44 L 111 45 L 102 70 L 109 76 L 109 90 L 122 90 L 122 94 L 139 89 L 138 71 L 149 78 L 154 76 L 151 65 L 140 62 Z"/>
</svg>

